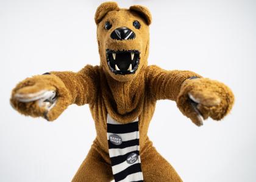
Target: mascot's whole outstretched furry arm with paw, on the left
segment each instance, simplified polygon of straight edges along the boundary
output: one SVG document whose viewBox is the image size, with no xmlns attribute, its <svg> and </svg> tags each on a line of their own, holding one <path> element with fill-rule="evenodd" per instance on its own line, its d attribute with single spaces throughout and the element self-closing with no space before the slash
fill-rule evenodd
<svg viewBox="0 0 256 182">
<path fill-rule="evenodd" d="M 77 73 L 50 72 L 21 81 L 10 102 L 18 112 L 55 120 L 70 104 L 91 104 L 97 95 L 97 70 L 86 66 Z"/>
</svg>

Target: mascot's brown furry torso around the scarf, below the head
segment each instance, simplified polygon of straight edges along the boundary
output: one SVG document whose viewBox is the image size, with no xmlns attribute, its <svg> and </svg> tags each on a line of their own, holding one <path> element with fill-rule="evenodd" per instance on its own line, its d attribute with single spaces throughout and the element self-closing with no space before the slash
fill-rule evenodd
<svg viewBox="0 0 256 182">
<path fill-rule="evenodd" d="M 98 79 L 98 97 L 90 104 L 91 114 L 96 126 L 94 147 L 102 150 L 106 161 L 108 157 L 107 114 L 119 123 L 129 123 L 139 118 L 141 154 L 151 145 L 148 139 L 149 121 L 155 110 L 156 100 L 147 90 L 145 70 L 131 82 L 118 82 L 104 73 L 101 66 L 95 72 Z"/>
</svg>

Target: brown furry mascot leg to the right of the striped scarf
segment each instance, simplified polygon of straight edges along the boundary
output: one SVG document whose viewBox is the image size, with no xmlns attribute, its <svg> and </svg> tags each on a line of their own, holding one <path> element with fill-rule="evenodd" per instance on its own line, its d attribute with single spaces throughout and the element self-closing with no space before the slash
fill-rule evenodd
<svg viewBox="0 0 256 182">
<path fill-rule="evenodd" d="M 141 168 L 144 181 L 182 181 L 171 164 L 155 150 L 155 147 L 151 147 L 141 155 Z"/>
</svg>

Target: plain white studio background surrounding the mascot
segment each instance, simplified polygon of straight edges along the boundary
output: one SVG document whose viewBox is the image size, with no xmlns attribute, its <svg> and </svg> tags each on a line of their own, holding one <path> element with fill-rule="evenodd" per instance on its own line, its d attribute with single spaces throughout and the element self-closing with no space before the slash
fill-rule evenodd
<svg viewBox="0 0 256 182">
<path fill-rule="evenodd" d="M 9 104 L 22 79 L 99 64 L 94 12 L 102 1 L 0 1 L 0 181 L 70 181 L 95 137 L 88 106 L 53 123 Z M 149 64 L 193 70 L 236 96 L 221 122 L 197 127 L 158 101 L 149 137 L 184 181 L 255 181 L 255 1 L 118 1 L 151 10 Z"/>
</svg>

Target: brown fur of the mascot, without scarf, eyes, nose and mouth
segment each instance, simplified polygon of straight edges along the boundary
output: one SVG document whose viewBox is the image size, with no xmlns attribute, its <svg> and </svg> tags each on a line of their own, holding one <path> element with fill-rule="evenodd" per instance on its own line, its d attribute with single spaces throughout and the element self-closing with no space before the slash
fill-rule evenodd
<svg viewBox="0 0 256 182">
<path fill-rule="evenodd" d="M 134 19 L 141 22 L 140 30 L 132 27 Z M 130 7 L 130 10 L 120 9 L 115 2 L 106 2 L 98 8 L 95 21 L 100 66 L 85 66 L 77 73 L 51 72 L 51 75 L 27 78 L 13 89 L 13 107 L 25 115 L 44 116 L 44 110 L 38 108 L 35 102 L 20 103 L 14 97 L 15 93 L 34 93 L 41 89 L 57 90 L 58 103 L 48 113 L 49 121 L 55 120 L 69 104 L 90 105 L 97 136 L 73 181 L 113 179 L 106 135 L 107 113 L 120 123 L 129 123 L 139 118 L 141 166 L 145 181 L 181 181 L 172 166 L 154 149 L 147 135 L 157 100 L 176 101 L 181 112 L 199 125 L 188 93 L 201 101 L 197 109 L 204 119 L 210 116 L 214 120 L 221 120 L 229 113 L 233 105 L 233 93 L 224 84 L 201 78 L 194 72 L 168 71 L 148 66 L 148 25 L 151 23 L 148 9 L 141 6 Z M 108 31 L 103 28 L 105 21 L 112 22 L 112 28 Z M 132 29 L 137 37 L 126 41 L 110 39 L 110 32 L 121 26 Z M 115 75 L 110 72 L 105 49 L 140 50 L 137 72 L 131 75 Z M 191 76 L 199 78 L 188 79 Z"/>
</svg>

